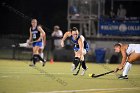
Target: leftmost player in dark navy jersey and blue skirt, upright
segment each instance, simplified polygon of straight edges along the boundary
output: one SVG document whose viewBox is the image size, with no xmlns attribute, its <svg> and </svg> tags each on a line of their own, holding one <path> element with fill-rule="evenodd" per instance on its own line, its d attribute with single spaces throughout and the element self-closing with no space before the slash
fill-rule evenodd
<svg viewBox="0 0 140 93">
<path fill-rule="evenodd" d="M 43 62 L 42 66 L 45 66 L 45 61 L 39 55 L 39 49 L 42 47 L 42 38 L 45 36 L 45 32 L 41 26 L 37 25 L 37 20 L 31 20 L 30 27 L 30 37 L 29 43 L 33 45 L 33 66 L 36 64 L 37 60 L 41 60 Z M 30 65 L 32 66 L 32 65 Z"/>
</svg>

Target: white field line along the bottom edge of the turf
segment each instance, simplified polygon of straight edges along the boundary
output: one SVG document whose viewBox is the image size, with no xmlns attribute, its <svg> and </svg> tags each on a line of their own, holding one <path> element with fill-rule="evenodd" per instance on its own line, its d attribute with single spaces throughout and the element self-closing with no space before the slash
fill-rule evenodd
<svg viewBox="0 0 140 93">
<path fill-rule="evenodd" d="M 140 87 L 136 87 L 136 88 L 103 88 L 103 89 L 63 90 L 63 91 L 29 92 L 29 93 L 76 93 L 76 92 L 118 91 L 118 90 L 140 90 Z"/>
</svg>

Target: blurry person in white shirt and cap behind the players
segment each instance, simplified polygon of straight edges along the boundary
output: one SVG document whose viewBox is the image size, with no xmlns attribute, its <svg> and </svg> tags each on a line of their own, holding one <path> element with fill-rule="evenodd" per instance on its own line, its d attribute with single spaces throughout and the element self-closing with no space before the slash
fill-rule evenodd
<svg viewBox="0 0 140 93">
<path fill-rule="evenodd" d="M 55 49 L 60 49 L 61 48 L 61 38 L 63 37 L 63 33 L 60 30 L 59 26 L 54 26 L 54 31 L 52 33 L 52 37 L 54 37 L 54 46 Z"/>
</svg>

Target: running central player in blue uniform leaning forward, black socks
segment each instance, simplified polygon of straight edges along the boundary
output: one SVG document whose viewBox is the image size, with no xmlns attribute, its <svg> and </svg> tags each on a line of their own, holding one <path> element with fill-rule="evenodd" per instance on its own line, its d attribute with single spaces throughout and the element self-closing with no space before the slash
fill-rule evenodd
<svg viewBox="0 0 140 93">
<path fill-rule="evenodd" d="M 85 64 L 84 55 L 89 51 L 89 44 L 86 42 L 83 35 L 79 35 L 79 31 L 76 27 L 73 27 L 71 31 L 68 31 L 64 34 L 61 46 L 64 47 L 64 41 L 67 37 L 70 37 L 72 43 L 74 44 L 75 58 L 72 64 L 72 71 L 74 71 L 79 63 L 82 64 L 83 71 L 81 75 L 85 74 L 85 71 L 88 69 Z"/>
</svg>

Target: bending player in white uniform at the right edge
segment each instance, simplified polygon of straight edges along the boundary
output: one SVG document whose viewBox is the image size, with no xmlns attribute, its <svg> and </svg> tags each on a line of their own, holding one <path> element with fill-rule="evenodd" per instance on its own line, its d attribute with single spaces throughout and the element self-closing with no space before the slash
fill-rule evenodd
<svg viewBox="0 0 140 93">
<path fill-rule="evenodd" d="M 115 44 L 115 52 L 121 52 L 122 60 L 118 66 L 119 70 L 123 69 L 123 73 L 119 76 L 119 79 L 128 79 L 128 72 L 132 66 L 132 63 L 140 60 L 140 44 Z"/>
</svg>

